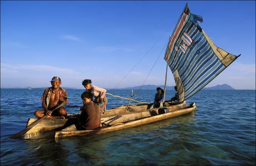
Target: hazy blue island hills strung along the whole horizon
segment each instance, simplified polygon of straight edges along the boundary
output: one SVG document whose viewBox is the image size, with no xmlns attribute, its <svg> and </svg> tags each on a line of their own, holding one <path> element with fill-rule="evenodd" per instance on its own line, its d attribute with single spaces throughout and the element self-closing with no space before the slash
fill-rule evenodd
<svg viewBox="0 0 256 166">
<path fill-rule="evenodd" d="M 157 87 L 160 87 L 162 89 L 164 89 L 164 85 L 143 85 L 142 88 L 141 86 L 133 86 L 133 87 L 127 87 L 127 88 L 115 88 L 115 89 L 156 89 Z M 45 89 L 48 87 L 41 87 L 41 88 L 32 88 L 30 86 L 26 87 L 26 88 L 20 88 L 20 87 L 15 87 L 16 89 Z M 64 89 L 78 89 L 78 88 L 71 88 L 71 87 L 62 87 Z M 104 89 L 113 89 L 113 88 L 104 88 Z M 174 90 L 174 86 L 166 86 L 166 90 Z M 232 86 L 227 85 L 227 84 L 222 84 L 222 85 L 216 85 L 216 86 L 212 86 L 212 87 L 208 87 L 208 88 L 203 88 L 202 90 L 235 90 L 234 88 L 232 88 Z"/>
</svg>

